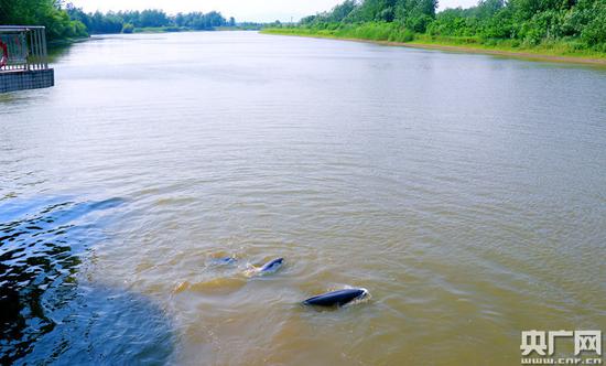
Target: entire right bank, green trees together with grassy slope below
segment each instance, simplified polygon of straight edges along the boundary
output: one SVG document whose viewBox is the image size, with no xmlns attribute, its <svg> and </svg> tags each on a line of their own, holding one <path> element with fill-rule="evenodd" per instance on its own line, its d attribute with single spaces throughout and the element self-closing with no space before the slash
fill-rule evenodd
<svg viewBox="0 0 606 366">
<path fill-rule="evenodd" d="M 441 12 L 436 7 L 436 0 L 346 0 L 296 26 L 263 33 L 606 60 L 606 0 L 479 0 Z"/>
</svg>

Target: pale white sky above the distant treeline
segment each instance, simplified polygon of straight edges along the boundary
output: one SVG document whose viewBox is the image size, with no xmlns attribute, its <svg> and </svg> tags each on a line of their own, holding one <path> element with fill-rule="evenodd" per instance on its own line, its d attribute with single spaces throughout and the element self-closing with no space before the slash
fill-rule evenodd
<svg viewBox="0 0 606 366">
<path fill-rule="evenodd" d="M 162 9 L 170 14 L 177 12 L 217 10 L 224 17 L 238 21 L 289 21 L 332 9 L 343 0 L 67 0 L 87 12 L 96 10 Z M 440 0 L 440 9 L 470 7 L 477 0 Z"/>
</svg>

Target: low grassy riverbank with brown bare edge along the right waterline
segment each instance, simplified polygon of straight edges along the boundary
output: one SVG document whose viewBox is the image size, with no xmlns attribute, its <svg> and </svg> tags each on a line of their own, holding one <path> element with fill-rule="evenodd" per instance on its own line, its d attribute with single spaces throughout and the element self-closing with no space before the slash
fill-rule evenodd
<svg viewBox="0 0 606 366">
<path fill-rule="evenodd" d="M 414 34 L 402 31 L 401 34 L 371 34 L 368 37 L 360 34 L 340 34 L 336 30 L 312 29 L 266 29 L 263 34 L 294 35 L 318 39 L 334 39 L 353 42 L 367 42 L 390 46 L 441 50 L 462 53 L 478 53 L 518 57 L 527 60 L 540 60 L 550 62 L 580 63 L 606 66 L 606 54 L 589 50 L 574 51 L 565 43 L 542 44 L 535 47 L 523 47 L 510 41 L 494 42 L 491 44 L 478 43 L 473 37 L 432 37 L 425 34 Z M 396 40 L 393 40 L 396 39 Z"/>
</svg>

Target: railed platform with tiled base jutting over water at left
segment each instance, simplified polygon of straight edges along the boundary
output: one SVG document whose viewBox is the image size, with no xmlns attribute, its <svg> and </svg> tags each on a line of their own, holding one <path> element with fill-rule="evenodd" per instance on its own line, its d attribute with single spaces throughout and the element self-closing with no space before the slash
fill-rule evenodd
<svg viewBox="0 0 606 366">
<path fill-rule="evenodd" d="M 55 85 L 45 33 L 44 26 L 0 25 L 0 93 Z"/>
</svg>

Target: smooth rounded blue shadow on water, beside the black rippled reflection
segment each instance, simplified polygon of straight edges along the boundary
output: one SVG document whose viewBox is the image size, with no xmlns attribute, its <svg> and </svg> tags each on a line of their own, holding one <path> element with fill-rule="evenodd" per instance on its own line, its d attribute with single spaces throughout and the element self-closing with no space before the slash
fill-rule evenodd
<svg viewBox="0 0 606 366">
<path fill-rule="evenodd" d="M 80 283 L 53 312 L 54 329 L 17 365 L 163 365 L 174 336 L 164 312 L 148 299 Z M 53 294 L 43 297 L 50 298 Z"/>
</svg>

